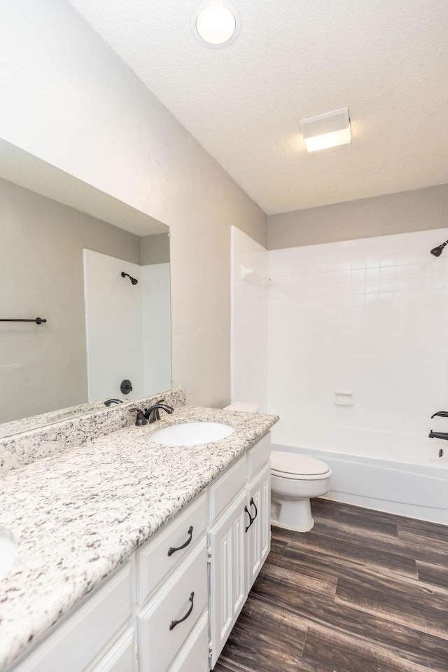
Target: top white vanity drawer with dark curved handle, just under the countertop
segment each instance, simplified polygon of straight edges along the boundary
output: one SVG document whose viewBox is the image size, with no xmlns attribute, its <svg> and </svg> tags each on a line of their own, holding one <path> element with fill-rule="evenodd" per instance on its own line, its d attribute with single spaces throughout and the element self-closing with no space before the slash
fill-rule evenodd
<svg viewBox="0 0 448 672">
<path fill-rule="evenodd" d="M 151 593 L 191 551 L 207 526 L 207 495 L 200 495 L 185 511 L 162 528 L 137 551 L 137 603 L 143 605 Z M 190 533 L 190 528 L 191 533 Z M 174 551 L 188 540 L 187 546 Z M 171 552 L 169 554 L 169 551 Z"/>
</svg>

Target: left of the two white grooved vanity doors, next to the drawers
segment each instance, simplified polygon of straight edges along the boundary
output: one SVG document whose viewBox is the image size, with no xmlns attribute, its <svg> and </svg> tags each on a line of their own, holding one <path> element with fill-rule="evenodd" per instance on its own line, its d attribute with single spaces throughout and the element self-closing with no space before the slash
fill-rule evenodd
<svg viewBox="0 0 448 672">
<path fill-rule="evenodd" d="M 247 597 L 246 534 L 248 514 L 246 489 L 209 531 L 211 667 L 219 654 Z"/>
</svg>

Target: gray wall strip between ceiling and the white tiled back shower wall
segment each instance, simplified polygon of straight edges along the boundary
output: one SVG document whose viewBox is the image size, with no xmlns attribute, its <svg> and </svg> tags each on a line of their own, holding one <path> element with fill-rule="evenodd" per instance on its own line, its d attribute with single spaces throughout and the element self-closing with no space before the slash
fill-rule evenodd
<svg viewBox="0 0 448 672">
<path fill-rule="evenodd" d="M 409 233 L 448 224 L 448 184 L 273 214 L 267 249 Z"/>
</svg>

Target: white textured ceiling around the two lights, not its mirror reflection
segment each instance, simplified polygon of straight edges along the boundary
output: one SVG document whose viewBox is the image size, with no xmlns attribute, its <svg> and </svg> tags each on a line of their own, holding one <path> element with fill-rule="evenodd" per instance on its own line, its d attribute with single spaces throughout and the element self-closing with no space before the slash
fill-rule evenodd
<svg viewBox="0 0 448 672">
<path fill-rule="evenodd" d="M 234 0 L 229 48 L 196 0 L 71 0 L 267 214 L 448 182 L 447 0 Z M 309 156 L 299 119 L 348 106 L 349 151 Z"/>
</svg>

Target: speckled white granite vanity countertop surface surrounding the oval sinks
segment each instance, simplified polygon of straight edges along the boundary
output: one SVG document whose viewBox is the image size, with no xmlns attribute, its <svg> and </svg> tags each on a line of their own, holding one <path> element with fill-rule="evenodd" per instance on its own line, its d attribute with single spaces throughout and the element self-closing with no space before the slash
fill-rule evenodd
<svg viewBox="0 0 448 672">
<path fill-rule="evenodd" d="M 40 638 L 160 526 L 276 423 L 260 413 L 182 407 L 1 479 L 0 526 L 19 552 L 0 581 L 0 671 Z M 186 420 L 235 427 L 202 446 L 160 446 L 156 430 Z"/>
</svg>

